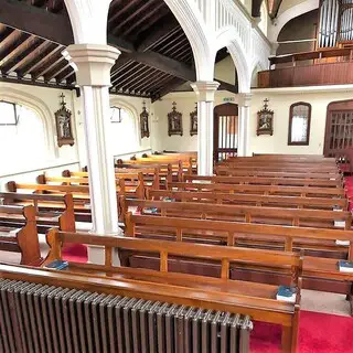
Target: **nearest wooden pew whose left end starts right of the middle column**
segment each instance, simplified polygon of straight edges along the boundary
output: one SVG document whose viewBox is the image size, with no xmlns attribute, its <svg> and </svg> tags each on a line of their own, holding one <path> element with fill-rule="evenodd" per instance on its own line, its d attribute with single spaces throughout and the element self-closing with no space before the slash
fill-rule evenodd
<svg viewBox="0 0 353 353">
<path fill-rule="evenodd" d="M 237 169 L 217 165 L 214 169 L 216 175 L 233 176 L 263 176 L 263 178 L 290 178 L 290 179 L 322 179 L 322 180 L 342 180 L 342 174 L 328 173 L 308 173 L 308 172 L 286 172 L 286 171 L 264 171 L 261 169 Z"/>
</svg>

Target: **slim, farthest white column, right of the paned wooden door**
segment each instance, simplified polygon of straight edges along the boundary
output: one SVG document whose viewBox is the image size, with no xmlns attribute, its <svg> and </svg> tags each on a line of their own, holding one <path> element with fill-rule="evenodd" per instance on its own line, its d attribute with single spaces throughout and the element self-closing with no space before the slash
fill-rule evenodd
<svg viewBox="0 0 353 353">
<path fill-rule="evenodd" d="M 249 154 L 252 94 L 239 94 L 238 116 L 238 156 Z"/>
</svg>

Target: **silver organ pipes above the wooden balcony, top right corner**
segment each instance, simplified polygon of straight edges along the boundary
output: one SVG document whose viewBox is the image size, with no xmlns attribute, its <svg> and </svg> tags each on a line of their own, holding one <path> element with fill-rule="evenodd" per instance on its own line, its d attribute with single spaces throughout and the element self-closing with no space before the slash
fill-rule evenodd
<svg viewBox="0 0 353 353">
<path fill-rule="evenodd" d="M 318 47 L 353 44 L 353 0 L 323 0 L 319 10 Z"/>
</svg>

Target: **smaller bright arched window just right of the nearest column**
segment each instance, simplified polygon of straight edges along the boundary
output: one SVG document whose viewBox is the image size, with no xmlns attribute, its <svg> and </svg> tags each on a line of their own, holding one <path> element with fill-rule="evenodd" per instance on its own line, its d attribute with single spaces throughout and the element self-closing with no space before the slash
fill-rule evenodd
<svg viewBox="0 0 353 353">
<path fill-rule="evenodd" d="M 113 149 L 115 153 L 125 153 L 138 148 L 137 118 L 130 109 L 121 105 L 110 107 Z"/>
</svg>

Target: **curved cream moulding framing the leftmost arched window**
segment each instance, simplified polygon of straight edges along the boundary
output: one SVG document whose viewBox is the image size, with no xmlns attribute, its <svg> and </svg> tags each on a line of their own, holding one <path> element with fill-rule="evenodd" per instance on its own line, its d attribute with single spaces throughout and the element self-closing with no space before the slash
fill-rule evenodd
<svg viewBox="0 0 353 353">
<path fill-rule="evenodd" d="M 58 149 L 54 143 L 56 141 L 54 116 L 47 105 L 36 96 L 10 87 L 0 87 L 0 97 L 11 103 L 22 104 L 38 114 L 44 126 L 45 148 L 50 157 L 57 158 Z"/>
</svg>

